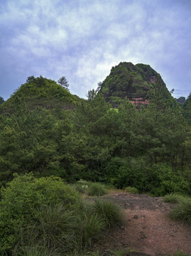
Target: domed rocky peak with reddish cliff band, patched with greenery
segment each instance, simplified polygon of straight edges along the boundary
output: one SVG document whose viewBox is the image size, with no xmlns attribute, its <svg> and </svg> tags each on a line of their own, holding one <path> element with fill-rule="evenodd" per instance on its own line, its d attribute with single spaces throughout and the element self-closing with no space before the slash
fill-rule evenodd
<svg viewBox="0 0 191 256">
<path fill-rule="evenodd" d="M 100 92 L 114 106 L 128 99 L 139 108 L 148 104 L 148 91 L 156 86 L 158 79 L 160 85 L 165 87 L 165 82 L 150 65 L 119 63 L 111 68 L 111 73 L 102 82 Z"/>
</svg>

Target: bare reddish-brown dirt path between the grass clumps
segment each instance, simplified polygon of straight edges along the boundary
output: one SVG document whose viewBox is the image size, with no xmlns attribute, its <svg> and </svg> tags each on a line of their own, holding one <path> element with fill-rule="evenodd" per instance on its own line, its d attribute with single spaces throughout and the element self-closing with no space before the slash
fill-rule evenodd
<svg viewBox="0 0 191 256">
<path fill-rule="evenodd" d="M 107 198 L 125 209 L 126 225 L 108 234 L 104 249 L 131 247 L 140 254 L 130 255 L 150 256 L 173 255 L 180 250 L 191 255 L 191 226 L 170 220 L 168 213 L 173 204 L 164 203 L 162 198 L 130 193 L 114 193 Z"/>
</svg>

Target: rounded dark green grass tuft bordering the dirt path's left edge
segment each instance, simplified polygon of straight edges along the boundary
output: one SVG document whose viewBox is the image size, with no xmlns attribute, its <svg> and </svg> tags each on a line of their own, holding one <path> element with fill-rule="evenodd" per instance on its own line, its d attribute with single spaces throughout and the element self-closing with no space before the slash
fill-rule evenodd
<svg viewBox="0 0 191 256">
<path fill-rule="evenodd" d="M 124 224 L 124 214 L 119 205 L 108 200 L 96 200 L 94 212 L 104 219 L 108 228 Z"/>
</svg>

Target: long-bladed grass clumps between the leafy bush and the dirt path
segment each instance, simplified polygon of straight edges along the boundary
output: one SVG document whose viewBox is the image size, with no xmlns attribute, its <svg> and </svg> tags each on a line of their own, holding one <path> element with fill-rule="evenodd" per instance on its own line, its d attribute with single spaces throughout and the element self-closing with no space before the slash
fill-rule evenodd
<svg viewBox="0 0 191 256">
<path fill-rule="evenodd" d="M 92 203 L 83 201 L 76 209 L 61 204 L 43 206 L 36 223 L 18 229 L 13 256 L 83 255 L 107 228 L 123 221 L 119 206 L 99 198 Z"/>
</svg>

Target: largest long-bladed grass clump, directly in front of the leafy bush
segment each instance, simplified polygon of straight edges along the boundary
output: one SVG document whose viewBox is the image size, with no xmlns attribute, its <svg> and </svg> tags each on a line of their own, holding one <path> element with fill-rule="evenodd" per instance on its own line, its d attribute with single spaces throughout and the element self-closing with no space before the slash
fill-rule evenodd
<svg viewBox="0 0 191 256">
<path fill-rule="evenodd" d="M 21 255 L 59 255 L 79 245 L 80 233 L 76 210 L 66 210 L 62 205 L 39 208 L 36 223 L 21 226 L 17 234 L 15 252 Z M 75 231 L 74 231 L 75 230 Z M 35 246 L 36 245 L 36 246 Z"/>
</svg>

